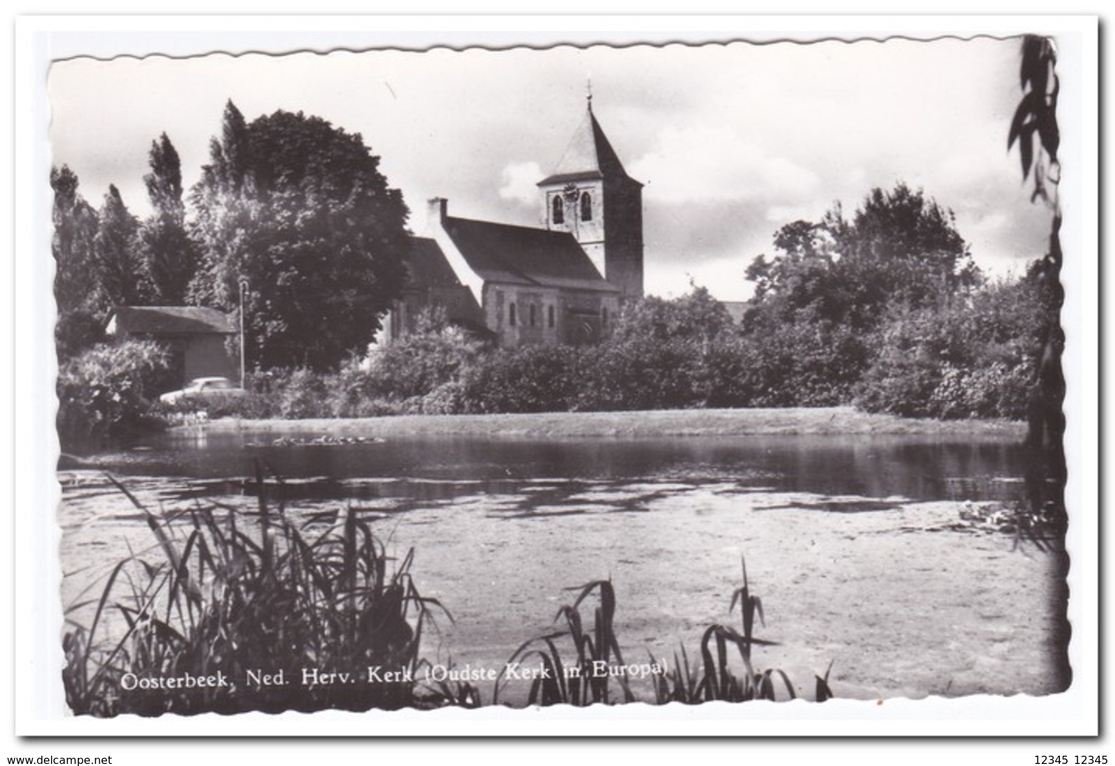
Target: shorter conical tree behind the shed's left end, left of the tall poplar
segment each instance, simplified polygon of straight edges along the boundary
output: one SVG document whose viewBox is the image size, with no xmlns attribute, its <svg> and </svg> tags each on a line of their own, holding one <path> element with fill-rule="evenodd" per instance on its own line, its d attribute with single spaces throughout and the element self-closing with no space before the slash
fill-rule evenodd
<svg viewBox="0 0 1115 766">
<path fill-rule="evenodd" d="M 145 303 L 149 291 L 136 248 L 139 224 L 116 186 L 108 186 L 97 217 L 93 249 L 97 288 L 109 306 Z"/>
</svg>

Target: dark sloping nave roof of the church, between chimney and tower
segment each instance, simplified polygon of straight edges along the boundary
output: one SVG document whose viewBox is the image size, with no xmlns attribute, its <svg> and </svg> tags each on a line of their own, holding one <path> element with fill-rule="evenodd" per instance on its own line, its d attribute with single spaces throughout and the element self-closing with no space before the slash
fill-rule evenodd
<svg viewBox="0 0 1115 766">
<path fill-rule="evenodd" d="M 443 225 L 485 282 L 619 292 L 569 232 L 448 216 Z"/>
</svg>

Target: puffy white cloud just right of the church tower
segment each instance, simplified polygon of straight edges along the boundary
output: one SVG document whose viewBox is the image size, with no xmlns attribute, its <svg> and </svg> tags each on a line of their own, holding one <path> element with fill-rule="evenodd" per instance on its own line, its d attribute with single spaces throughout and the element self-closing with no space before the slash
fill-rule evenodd
<svg viewBox="0 0 1115 766">
<path fill-rule="evenodd" d="M 655 149 L 629 167 L 650 200 L 667 203 L 752 201 L 795 203 L 816 194 L 821 180 L 773 156 L 728 127 L 667 127 Z"/>
</svg>

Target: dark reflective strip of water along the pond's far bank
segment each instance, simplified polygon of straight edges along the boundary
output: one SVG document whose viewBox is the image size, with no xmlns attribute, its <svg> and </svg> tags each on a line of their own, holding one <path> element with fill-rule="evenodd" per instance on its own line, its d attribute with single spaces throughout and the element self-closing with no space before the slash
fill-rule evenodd
<svg viewBox="0 0 1115 766">
<path fill-rule="evenodd" d="M 773 488 L 881 498 L 1010 501 L 1022 493 L 1022 450 L 1005 438 L 427 436 L 310 444 L 319 437 L 316 432 L 284 433 L 277 445 L 274 434 L 184 429 L 159 435 L 142 449 L 99 456 L 96 463 L 132 475 L 200 478 L 184 489 L 200 496 L 251 493 L 245 477 L 259 459 L 282 477 L 277 491 L 290 500 L 435 502 L 537 491 L 537 505 L 552 506 L 558 496 L 574 497 L 584 483 L 640 478 L 729 482 L 735 492 Z M 637 510 L 639 503 L 628 505 Z"/>
</svg>

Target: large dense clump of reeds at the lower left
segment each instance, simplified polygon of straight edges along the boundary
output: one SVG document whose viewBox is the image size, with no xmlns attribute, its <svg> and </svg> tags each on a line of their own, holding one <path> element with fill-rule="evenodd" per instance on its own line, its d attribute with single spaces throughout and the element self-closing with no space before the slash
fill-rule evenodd
<svg viewBox="0 0 1115 766">
<path fill-rule="evenodd" d="M 258 467 L 258 526 L 214 507 L 171 525 L 113 481 L 162 560 L 119 562 L 87 624 L 75 615 L 93 602 L 68 610 L 62 680 L 75 715 L 479 704 L 468 685 L 420 680 L 423 632 L 435 612 L 452 615 L 415 586 L 414 551 L 392 559 L 356 514 L 309 535 L 266 501 Z M 216 683 L 143 688 L 186 678 Z"/>
</svg>

